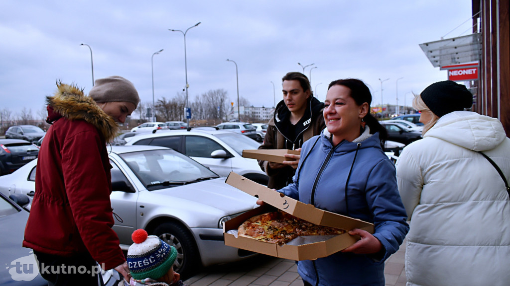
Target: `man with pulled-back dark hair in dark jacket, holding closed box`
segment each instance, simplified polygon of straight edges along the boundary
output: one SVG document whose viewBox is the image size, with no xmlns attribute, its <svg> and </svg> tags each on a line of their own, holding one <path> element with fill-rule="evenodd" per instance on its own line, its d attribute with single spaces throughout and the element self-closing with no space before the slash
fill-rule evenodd
<svg viewBox="0 0 510 286">
<path fill-rule="evenodd" d="M 259 149 L 301 150 L 304 141 L 326 128 L 322 110 L 324 103 L 313 97 L 308 77 L 300 72 L 289 72 L 283 78 L 283 96 L 269 121 L 264 143 Z M 269 176 L 268 187 L 281 189 L 292 183 L 299 163 L 299 155 L 287 154 L 295 161 L 283 164 L 259 160 Z"/>
</svg>

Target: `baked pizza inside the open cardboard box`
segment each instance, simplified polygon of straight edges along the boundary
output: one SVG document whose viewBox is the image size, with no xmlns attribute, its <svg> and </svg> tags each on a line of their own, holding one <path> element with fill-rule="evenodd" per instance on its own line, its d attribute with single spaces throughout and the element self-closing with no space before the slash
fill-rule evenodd
<svg viewBox="0 0 510 286">
<path fill-rule="evenodd" d="M 253 216 L 238 227 L 238 236 L 285 244 L 299 236 L 341 235 L 340 228 L 316 225 L 283 211 Z"/>
</svg>

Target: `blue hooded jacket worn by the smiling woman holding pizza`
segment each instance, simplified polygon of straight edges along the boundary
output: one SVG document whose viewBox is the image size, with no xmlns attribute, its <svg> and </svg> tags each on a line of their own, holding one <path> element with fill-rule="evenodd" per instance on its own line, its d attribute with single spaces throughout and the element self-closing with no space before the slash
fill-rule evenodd
<svg viewBox="0 0 510 286">
<path fill-rule="evenodd" d="M 409 231 L 397 189 L 395 166 L 380 147 L 378 133 L 365 132 L 337 146 L 327 129 L 304 142 L 294 183 L 279 190 L 316 208 L 374 223 L 380 253 L 337 252 L 299 261 L 298 272 L 312 285 L 384 285 L 384 262 Z M 347 199 L 346 199 L 347 198 Z"/>
</svg>

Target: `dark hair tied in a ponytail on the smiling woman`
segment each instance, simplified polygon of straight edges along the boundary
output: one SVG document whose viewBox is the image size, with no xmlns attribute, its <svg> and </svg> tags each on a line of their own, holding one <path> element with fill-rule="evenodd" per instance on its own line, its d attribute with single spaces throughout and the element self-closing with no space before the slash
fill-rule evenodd
<svg viewBox="0 0 510 286">
<path fill-rule="evenodd" d="M 381 148 L 384 150 L 384 146 L 386 140 L 388 139 L 388 132 L 386 128 L 382 126 L 377 119 L 375 119 L 370 114 L 370 103 L 372 103 L 372 94 L 370 93 L 370 89 L 367 85 L 356 78 L 346 78 L 346 79 L 338 79 L 335 81 L 331 81 L 327 89 L 329 90 L 333 85 L 343 85 L 344 87 L 350 90 L 350 96 L 354 99 L 354 102 L 358 105 L 362 105 L 363 103 L 368 103 L 368 113 L 363 118 L 366 125 L 370 128 L 370 134 L 375 134 L 379 132 L 379 141 L 381 144 Z M 361 130 L 363 133 L 364 130 Z"/>
</svg>

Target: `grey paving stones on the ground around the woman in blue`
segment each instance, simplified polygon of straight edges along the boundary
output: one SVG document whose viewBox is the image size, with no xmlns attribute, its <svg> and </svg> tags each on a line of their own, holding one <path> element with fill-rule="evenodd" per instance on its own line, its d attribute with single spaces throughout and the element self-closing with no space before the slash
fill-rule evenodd
<svg viewBox="0 0 510 286">
<path fill-rule="evenodd" d="M 386 286 L 405 286 L 405 241 L 386 261 Z M 188 286 L 302 286 L 294 261 L 258 255 L 245 261 L 208 267 L 184 281 Z"/>
</svg>

